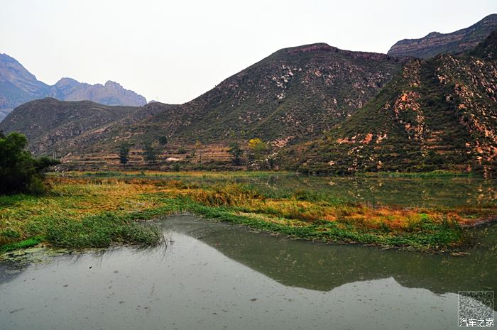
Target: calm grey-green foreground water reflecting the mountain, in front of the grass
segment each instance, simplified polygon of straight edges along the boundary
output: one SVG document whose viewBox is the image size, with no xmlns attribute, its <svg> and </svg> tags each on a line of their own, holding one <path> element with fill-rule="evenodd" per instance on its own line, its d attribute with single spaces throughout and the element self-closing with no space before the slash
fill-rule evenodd
<svg viewBox="0 0 497 330">
<path fill-rule="evenodd" d="M 457 292 L 497 289 L 497 226 L 455 257 L 161 222 L 166 249 L 0 264 L 0 329 L 458 329 Z"/>
</svg>

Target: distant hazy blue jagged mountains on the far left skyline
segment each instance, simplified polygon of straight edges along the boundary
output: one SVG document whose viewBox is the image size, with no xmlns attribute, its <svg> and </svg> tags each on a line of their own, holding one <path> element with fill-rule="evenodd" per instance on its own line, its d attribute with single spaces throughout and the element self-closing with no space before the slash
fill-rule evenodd
<svg viewBox="0 0 497 330">
<path fill-rule="evenodd" d="M 62 78 L 55 85 L 49 86 L 36 79 L 13 57 L 0 54 L 0 121 L 16 106 L 44 97 L 67 101 L 90 100 L 121 106 L 142 106 L 147 103 L 141 95 L 111 81 L 105 85 L 91 85 Z"/>
</svg>

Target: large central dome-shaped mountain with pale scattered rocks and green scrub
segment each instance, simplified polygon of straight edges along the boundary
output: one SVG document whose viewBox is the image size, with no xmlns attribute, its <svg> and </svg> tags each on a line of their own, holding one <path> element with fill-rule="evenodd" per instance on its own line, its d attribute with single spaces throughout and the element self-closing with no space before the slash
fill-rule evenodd
<svg viewBox="0 0 497 330">
<path fill-rule="evenodd" d="M 119 135 L 133 143 L 163 135 L 186 144 L 307 140 L 366 104 L 402 65 L 396 57 L 325 43 L 285 48 Z"/>
</svg>

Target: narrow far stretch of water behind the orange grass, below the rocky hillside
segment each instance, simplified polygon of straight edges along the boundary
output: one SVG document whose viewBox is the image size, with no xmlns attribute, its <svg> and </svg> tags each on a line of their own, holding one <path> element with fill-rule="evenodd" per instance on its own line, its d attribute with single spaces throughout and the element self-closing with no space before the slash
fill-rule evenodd
<svg viewBox="0 0 497 330">
<path fill-rule="evenodd" d="M 460 207 L 495 205 L 497 182 L 476 177 L 312 177 L 286 175 L 241 178 L 269 191 L 299 189 L 320 192 L 348 202 L 403 207 Z"/>
</svg>

